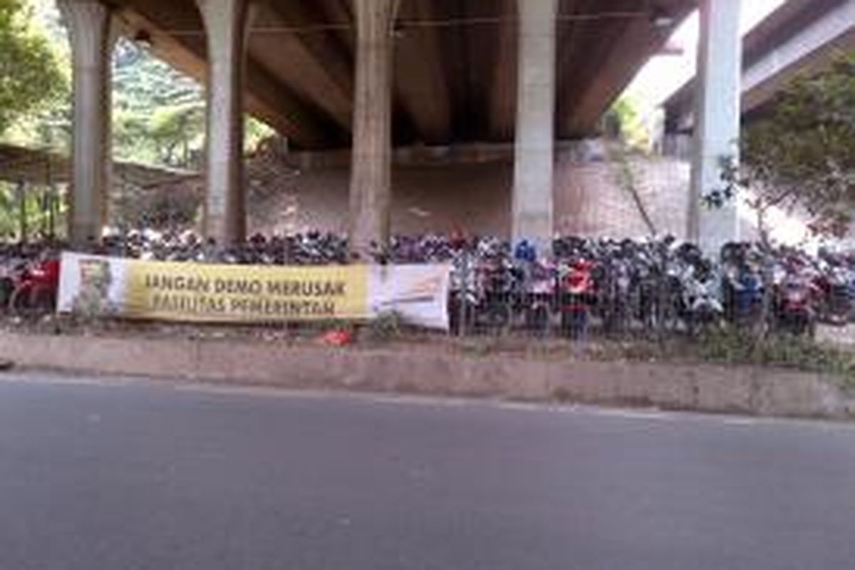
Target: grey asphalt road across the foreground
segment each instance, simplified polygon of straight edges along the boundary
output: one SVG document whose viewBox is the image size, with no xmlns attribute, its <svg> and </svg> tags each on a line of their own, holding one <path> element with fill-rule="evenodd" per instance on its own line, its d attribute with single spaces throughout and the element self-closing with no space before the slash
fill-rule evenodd
<svg viewBox="0 0 855 570">
<path fill-rule="evenodd" d="M 3 570 L 855 567 L 855 428 L 0 381 Z"/>
</svg>

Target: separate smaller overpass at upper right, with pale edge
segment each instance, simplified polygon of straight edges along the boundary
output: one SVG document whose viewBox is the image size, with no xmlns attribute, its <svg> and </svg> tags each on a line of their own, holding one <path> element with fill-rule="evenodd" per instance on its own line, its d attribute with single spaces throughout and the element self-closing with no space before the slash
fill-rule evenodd
<svg viewBox="0 0 855 570">
<path fill-rule="evenodd" d="M 762 115 L 799 74 L 817 73 L 855 50 L 855 0 L 788 0 L 744 38 L 742 115 Z M 664 103 L 665 130 L 691 132 L 694 80 Z"/>
</svg>

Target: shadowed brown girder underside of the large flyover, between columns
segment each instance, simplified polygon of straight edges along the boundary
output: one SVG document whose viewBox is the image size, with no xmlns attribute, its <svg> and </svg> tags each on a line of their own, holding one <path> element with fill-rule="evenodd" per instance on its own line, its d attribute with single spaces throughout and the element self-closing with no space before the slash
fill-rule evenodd
<svg viewBox="0 0 855 570">
<path fill-rule="evenodd" d="M 514 140 L 517 0 L 400 0 L 394 45 L 393 142 Z M 205 32 L 192 0 L 121 0 L 125 32 L 204 79 Z M 685 17 L 694 0 L 561 0 L 557 18 L 557 138 L 598 118 L 667 33 L 655 15 Z M 296 147 L 350 145 L 355 27 L 350 0 L 257 3 L 248 38 L 245 103 Z"/>
</svg>

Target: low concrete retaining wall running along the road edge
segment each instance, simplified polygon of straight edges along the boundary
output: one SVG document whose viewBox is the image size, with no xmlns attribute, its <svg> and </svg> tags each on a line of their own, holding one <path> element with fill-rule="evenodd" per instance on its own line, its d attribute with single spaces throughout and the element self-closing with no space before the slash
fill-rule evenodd
<svg viewBox="0 0 855 570">
<path fill-rule="evenodd" d="M 250 342 L 0 333 L 20 367 L 290 389 L 401 392 L 644 406 L 764 416 L 855 417 L 816 374 L 753 367 L 538 361 L 412 350 L 289 348 Z"/>
</svg>

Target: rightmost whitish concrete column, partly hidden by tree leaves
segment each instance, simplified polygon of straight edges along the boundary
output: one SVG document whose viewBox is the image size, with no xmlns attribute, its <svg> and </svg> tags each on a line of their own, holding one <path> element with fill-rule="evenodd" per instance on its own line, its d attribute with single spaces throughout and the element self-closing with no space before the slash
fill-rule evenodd
<svg viewBox="0 0 855 570">
<path fill-rule="evenodd" d="M 739 204 L 722 209 L 701 206 L 702 197 L 721 189 L 723 157 L 739 158 L 742 39 L 740 0 L 700 4 L 698 91 L 689 201 L 688 238 L 709 253 L 739 239 Z"/>
</svg>

